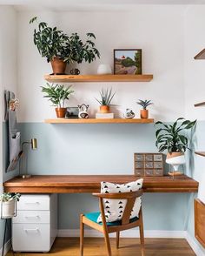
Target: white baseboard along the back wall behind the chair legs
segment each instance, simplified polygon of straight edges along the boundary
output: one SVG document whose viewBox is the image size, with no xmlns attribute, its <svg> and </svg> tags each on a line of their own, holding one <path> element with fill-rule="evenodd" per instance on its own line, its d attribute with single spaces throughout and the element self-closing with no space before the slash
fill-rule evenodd
<svg viewBox="0 0 205 256">
<path fill-rule="evenodd" d="M 145 230 L 144 237 L 145 238 L 159 238 L 159 239 L 184 239 L 186 238 L 186 231 L 165 231 L 165 230 Z M 80 230 L 78 229 L 60 229 L 57 232 L 58 237 L 72 237 L 76 238 L 80 236 Z M 116 233 L 111 233 L 110 238 L 116 237 Z M 97 232 L 93 229 L 85 229 L 85 237 L 95 237 L 101 238 L 103 237 L 101 232 Z M 121 232 L 122 238 L 139 238 L 139 230 L 131 229 Z"/>
</svg>

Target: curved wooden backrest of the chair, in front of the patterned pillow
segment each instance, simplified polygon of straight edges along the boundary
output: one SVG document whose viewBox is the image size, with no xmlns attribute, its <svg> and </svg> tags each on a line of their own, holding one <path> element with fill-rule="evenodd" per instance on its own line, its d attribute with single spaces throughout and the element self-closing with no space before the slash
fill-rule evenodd
<svg viewBox="0 0 205 256">
<path fill-rule="evenodd" d="M 102 223 L 106 222 L 105 220 L 105 213 L 103 207 L 103 199 L 127 199 L 127 204 L 125 206 L 123 215 L 122 215 L 122 225 L 129 224 L 129 218 L 133 206 L 136 202 L 136 198 L 142 196 L 143 190 L 138 190 L 136 192 L 121 192 L 121 193 L 93 193 L 93 196 L 99 198 L 100 201 L 100 210 L 102 214 Z"/>
</svg>

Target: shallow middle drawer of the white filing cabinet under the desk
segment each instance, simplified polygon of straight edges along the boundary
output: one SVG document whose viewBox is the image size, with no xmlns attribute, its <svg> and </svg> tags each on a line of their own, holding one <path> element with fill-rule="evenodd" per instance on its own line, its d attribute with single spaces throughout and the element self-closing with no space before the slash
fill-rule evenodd
<svg viewBox="0 0 205 256">
<path fill-rule="evenodd" d="M 50 211 L 17 211 L 13 223 L 50 223 Z"/>
</svg>

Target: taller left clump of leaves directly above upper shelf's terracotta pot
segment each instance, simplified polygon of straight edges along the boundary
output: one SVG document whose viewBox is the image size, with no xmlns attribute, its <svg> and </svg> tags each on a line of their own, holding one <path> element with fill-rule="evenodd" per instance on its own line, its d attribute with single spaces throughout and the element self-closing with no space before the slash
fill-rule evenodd
<svg viewBox="0 0 205 256">
<path fill-rule="evenodd" d="M 30 24 L 36 22 L 37 29 L 34 30 L 34 44 L 42 57 L 46 57 L 50 62 L 54 57 L 60 57 L 66 61 L 69 55 L 69 36 L 63 33 L 62 30 L 57 30 L 56 27 L 51 28 L 48 24 L 37 22 L 37 17 L 30 20 Z"/>
</svg>

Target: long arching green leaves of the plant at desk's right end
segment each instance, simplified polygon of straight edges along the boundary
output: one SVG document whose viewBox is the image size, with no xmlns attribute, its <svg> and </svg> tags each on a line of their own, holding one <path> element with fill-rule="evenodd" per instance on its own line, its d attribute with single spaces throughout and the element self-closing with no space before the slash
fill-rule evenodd
<svg viewBox="0 0 205 256">
<path fill-rule="evenodd" d="M 184 120 L 184 121 L 182 121 Z M 178 122 L 182 122 L 178 124 Z M 188 138 L 182 134 L 182 131 L 193 128 L 196 124 L 195 121 L 185 120 L 178 118 L 173 125 L 166 125 L 160 121 L 155 125 L 162 125 L 162 128 L 155 131 L 156 142 L 159 152 L 186 152 L 188 148 Z"/>
</svg>

